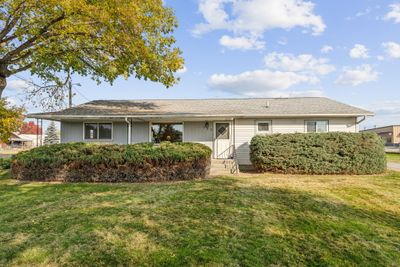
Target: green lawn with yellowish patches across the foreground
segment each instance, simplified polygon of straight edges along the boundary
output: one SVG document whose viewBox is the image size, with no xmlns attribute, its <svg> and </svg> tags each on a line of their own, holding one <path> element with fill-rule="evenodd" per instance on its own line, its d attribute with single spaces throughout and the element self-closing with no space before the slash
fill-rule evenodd
<svg viewBox="0 0 400 267">
<path fill-rule="evenodd" d="M 0 266 L 400 265 L 400 173 L 158 184 L 0 176 Z"/>
</svg>

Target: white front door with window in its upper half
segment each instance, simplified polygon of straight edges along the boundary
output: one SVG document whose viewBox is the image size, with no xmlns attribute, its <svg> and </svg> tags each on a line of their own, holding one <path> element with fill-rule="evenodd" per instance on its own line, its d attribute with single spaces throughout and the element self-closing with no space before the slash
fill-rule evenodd
<svg viewBox="0 0 400 267">
<path fill-rule="evenodd" d="M 231 123 L 215 122 L 214 123 L 214 158 L 228 159 L 232 156 L 231 149 Z"/>
</svg>

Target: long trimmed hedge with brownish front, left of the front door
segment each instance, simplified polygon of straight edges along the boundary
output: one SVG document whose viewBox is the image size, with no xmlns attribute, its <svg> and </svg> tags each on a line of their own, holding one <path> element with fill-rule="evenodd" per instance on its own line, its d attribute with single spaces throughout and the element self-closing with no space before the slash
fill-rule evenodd
<svg viewBox="0 0 400 267">
<path fill-rule="evenodd" d="M 205 178 L 211 149 L 195 143 L 134 145 L 56 144 L 17 154 L 11 173 L 19 180 L 153 182 Z"/>
</svg>

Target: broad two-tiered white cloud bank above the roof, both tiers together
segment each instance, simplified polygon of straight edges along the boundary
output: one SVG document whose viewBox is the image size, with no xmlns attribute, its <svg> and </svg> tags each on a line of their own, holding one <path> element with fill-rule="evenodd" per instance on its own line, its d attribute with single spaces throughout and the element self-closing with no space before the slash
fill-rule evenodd
<svg viewBox="0 0 400 267">
<path fill-rule="evenodd" d="M 265 69 L 234 75 L 214 74 L 209 79 L 209 85 L 214 89 L 249 97 L 321 96 L 320 90 L 287 89 L 300 84 L 316 84 L 320 76 L 335 70 L 328 59 L 308 54 L 296 56 L 273 52 L 264 57 L 264 63 Z"/>
</svg>

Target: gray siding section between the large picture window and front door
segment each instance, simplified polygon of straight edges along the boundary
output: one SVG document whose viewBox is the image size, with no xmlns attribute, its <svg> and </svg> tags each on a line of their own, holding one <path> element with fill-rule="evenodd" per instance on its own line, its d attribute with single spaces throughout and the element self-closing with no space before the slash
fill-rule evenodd
<svg viewBox="0 0 400 267">
<path fill-rule="evenodd" d="M 184 141 L 201 143 L 209 148 L 213 148 L 213 123 L 209 123 L 208 129 L 205 122 L 185 122 Z"/>
</svg>

